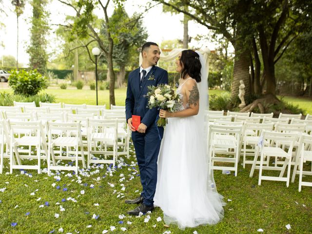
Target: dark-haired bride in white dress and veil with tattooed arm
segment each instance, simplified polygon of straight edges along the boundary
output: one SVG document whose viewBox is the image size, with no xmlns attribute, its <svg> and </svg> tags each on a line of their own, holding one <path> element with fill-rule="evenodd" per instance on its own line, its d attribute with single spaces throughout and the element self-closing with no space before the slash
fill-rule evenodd
<svg viewBox="0 0 312 234">
<path fill-rule="evenodd" d="M 213 173 L 208 176 L 204 121 L 208 87 L 204 64 L 202 56 L 193 50 L 180 53 L 176 71 L 181 79 L 176 92 L 183 105 L 179 111 L 159 113 L 168 118 L 168 124 L 158 156 L 154 201 L 164 212 L 166 224 L 175 223 L 183 230 L 216 224 L 224 213 L 225 203 L 216 191 Z"/>
</svg>

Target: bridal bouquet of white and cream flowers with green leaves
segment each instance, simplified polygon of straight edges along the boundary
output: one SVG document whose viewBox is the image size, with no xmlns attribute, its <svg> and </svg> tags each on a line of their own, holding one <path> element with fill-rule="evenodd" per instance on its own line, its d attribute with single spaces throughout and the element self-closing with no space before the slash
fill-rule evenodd
<svg viewBox="0 0 312 234">
<path fill-rule="evenodd" d="M 149 98 L 148 105 L 150 109 L 158 109 L 174 112 L 181 104 L 180 95 L 176 95 L 175 90 L 168 84 L 158 84 L 157 86 L 148 86 L 149 92 L 145 97 Z M 159 117 L 157 126 L 163 127 L 168 123 L 167 118 Z"/>
</svg>

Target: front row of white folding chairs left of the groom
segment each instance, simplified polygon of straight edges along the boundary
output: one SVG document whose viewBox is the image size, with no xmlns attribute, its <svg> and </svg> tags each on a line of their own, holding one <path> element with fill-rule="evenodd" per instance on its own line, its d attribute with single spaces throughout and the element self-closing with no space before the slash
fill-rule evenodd
<svg viewBox="0 0 312 234">
<path fill-rule="evenodd" d="M 85 137 L 80 122 L 48 121 L 46 125 L 48 132 L 41 121 L 0 120 L 0 173 L 3 158 L 9 158 L 10 173 L 13 169 L 35 169 L 40 173 L 41 159 L 46 159 L 49 174 L 51 170 L 73 170 L 77 174 L 78 161 L 82 167 L 86 166 L 85 147 L 88 166 L 91 163 L 115 166 L 119 138 L 117 119 L 88 118 Z M 99 159 L 101 155 L 104 158 Z M 107 156 L 112 158 L 107 159 Z M 22 162 L 21 159 L 37 159 L 37 164 L 25 164 L 30 161 Z M 57 165 L 57 160 L 74 160 L 75 165 L 71 166 L 72 162 Z"/>
</svg>

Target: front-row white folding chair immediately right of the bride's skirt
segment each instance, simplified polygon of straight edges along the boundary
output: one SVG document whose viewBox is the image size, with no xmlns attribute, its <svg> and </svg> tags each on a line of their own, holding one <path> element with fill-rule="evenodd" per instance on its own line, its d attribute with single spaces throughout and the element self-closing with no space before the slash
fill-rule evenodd
<svg viewBox="0 0 312 234">
<path fill-rule="evenodd" d="M 210 170 L 230 170 L 237 176 L 240 152 L 240 135 L 243 125 L 209 125 L 209 168 Z M 224 137 L 225 136 L 225 137 Z M 220 156 L 216 156 L 216 155 Z M 233 157 L 227 157 L 227 156 Z M 215 162 L 234 163 L 234 166 L 216 166 Z M 211 173 L 209 171 L 209 173 Z"/>
</svg>

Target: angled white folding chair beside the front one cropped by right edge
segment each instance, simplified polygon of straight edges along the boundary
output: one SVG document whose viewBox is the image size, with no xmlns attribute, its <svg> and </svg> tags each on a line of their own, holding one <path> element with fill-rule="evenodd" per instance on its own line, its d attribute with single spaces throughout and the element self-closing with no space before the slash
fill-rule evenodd
<svg viewBox="0 0 312 234">
<path fill-rule="evenodd" d="M 278 133 L 273 131 L 263 131 L 263 146 L 261 147 L 260 153 L 260 165 L 255 167 L 259 169 L 259 179 L 258 185 L 261 185 L 262 180 L 276 180 L 285 181 L 286 186 L 289 186 L 290 174 L 291 174 L 291 160 L 292 160 L 292 148 L 296 136 L 293 133 Z M 286 147 L 288 147 L 288 150 Z M 285 159 L 283 161 L 283 166 L 270 166 L 263 165 L 266 157 L 275 157 L 280 159 Z M 276 160 L 275 160 L 276 162 Z M 287 167 L 287 176 L 283 177 Z M 279 176 L 263 176 L 264 170 L 280 171 Z"/>
</svg>

